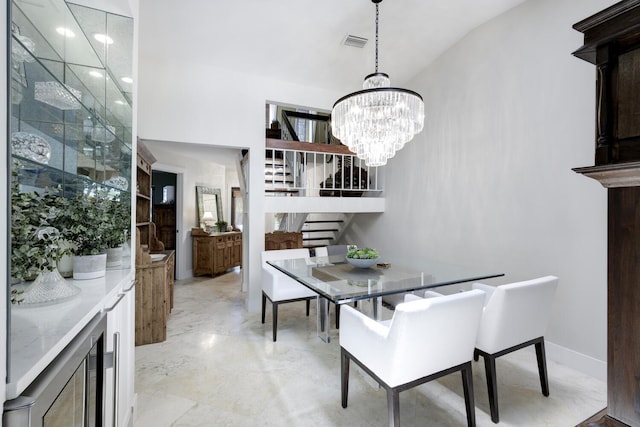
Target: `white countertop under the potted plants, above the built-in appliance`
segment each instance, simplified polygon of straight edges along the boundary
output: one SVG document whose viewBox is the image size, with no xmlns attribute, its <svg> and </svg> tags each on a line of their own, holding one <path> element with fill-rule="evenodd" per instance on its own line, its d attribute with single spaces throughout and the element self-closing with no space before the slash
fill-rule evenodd
<svg viewBox="0 0 640 427">
<path fill-rule="evenodd" d="M 44 307 L 11 306 L 7 399 L 16 398 L 93 317 L 131 286 L 135 270 L 107 270 L 105 277 L 70 280 L 80 294 Z"/>
</svg>

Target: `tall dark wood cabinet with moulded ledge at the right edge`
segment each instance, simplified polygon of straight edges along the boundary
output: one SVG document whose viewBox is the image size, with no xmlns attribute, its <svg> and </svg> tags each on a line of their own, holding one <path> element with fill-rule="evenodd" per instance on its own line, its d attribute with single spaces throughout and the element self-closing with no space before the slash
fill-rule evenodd
<svg viewBox="0 0 640 427">
<path fill-rule="evenodd" d="M 581 426 L 640 426 L 640 1 L 577 23 L 574 55 L 596 66 L 595 165 L 608 188 L 607 408 Z"/>
</svg>

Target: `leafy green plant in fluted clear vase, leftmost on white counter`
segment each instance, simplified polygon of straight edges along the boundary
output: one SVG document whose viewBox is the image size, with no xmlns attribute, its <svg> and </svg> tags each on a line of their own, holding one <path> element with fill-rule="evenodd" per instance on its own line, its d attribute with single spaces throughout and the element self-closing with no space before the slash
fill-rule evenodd
<svg viewBox="0 0 640 427">
<path fill-rule="evenodd" d="M 15 170 L 15 168 L 14 168 Z M 11 186 L 11 302 L 48 303 L 73 296 L 77 288 L 64 281 L 58 261 L 71 252 L 57 228 L 56 192 L 20 192 L 15 173 Z M 26 288 L 23 281 L 34 280 Z"/>
</svg>

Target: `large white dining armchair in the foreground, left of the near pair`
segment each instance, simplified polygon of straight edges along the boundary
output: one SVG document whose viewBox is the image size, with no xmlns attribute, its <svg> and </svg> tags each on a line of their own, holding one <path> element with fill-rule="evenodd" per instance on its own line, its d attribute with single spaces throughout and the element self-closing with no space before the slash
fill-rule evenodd
<svg viewBox="0 0 640 427">
<path fill-rule="evenodd" d="M 483 292 L 477 290 L 415 299 L 398 304 L 391 321 L 382 323 L 343 305 L 342 407 L 347 407 L 351 360 L 386 389 L 391 426 L 400 425 L 401 391 L 460 371 L 467 424 L 474 426 L 471 358 L 483 301 Z"/>
</svg>

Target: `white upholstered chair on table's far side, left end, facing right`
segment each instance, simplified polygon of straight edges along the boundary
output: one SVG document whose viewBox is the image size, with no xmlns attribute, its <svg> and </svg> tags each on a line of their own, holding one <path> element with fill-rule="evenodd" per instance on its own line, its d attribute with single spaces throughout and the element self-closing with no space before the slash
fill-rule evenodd
<svg viewBox="0 0 640 427">
<path fill-rule="evenodd" d="M 276 341 L 278 331 L 278 304 L 306 301 L 307 316 L 309 316 L 310 301 L 318 296 L 318 294 L 311 289 L 267 264 L 267 261 L 297 258 L 309 258 L 309 250 L 280 249 L 262 252 L 262 323 L 264 323 L 268 298 L 269 301 L 271 301 L 274 342 Z"/>
</svg>

